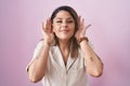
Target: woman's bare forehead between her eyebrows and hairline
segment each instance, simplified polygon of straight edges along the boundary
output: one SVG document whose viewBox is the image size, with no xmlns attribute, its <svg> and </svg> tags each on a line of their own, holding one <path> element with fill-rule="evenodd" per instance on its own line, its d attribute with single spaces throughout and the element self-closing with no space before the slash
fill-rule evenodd
<svg viewBox="0 0 130 86">
<path fill-rule="evenodd" d="M 60 11 L 60 12 L 56 14 L 55 18 L 73 18 L 73 16 L 72 16 L 70 13 L 67 12 L 67 11 Z"/>
</svg>

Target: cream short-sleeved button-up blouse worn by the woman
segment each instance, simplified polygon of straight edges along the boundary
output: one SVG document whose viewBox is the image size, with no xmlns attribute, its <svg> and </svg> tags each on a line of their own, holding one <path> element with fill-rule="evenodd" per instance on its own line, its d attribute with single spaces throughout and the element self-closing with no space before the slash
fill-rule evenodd
<svg viewBox="0 0 130 86">
<path fill-rule="evenodd" d="M 41 41 L 34 52 L 32 60 L 40 53 L 42 46 Z M 58 46 L 51 46 L 46 75 L 42 78 L 43 86 L 89 86 L 82 53 L 80 49 L 78 52 L 78 58 L 72 58 L 69 54 L 65 66 Z M 27 69 L 31 61 L 28 63 Z"/>
</svg>

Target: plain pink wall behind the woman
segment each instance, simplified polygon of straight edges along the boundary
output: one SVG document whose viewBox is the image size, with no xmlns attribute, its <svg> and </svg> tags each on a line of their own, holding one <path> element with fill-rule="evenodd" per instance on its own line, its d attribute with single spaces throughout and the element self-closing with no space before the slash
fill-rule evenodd
<svg viewBox="0 0 130 86">
<path fill-rule="evenodd" d="M 87 35 L 104 62 L 104 74 L 90 86 L 130 85 L 130 0 L 0 0 L 0 86 L 41 86 L 26 73 L 41 22 L 68 4 L 92 24 Z"/>
</svg>

